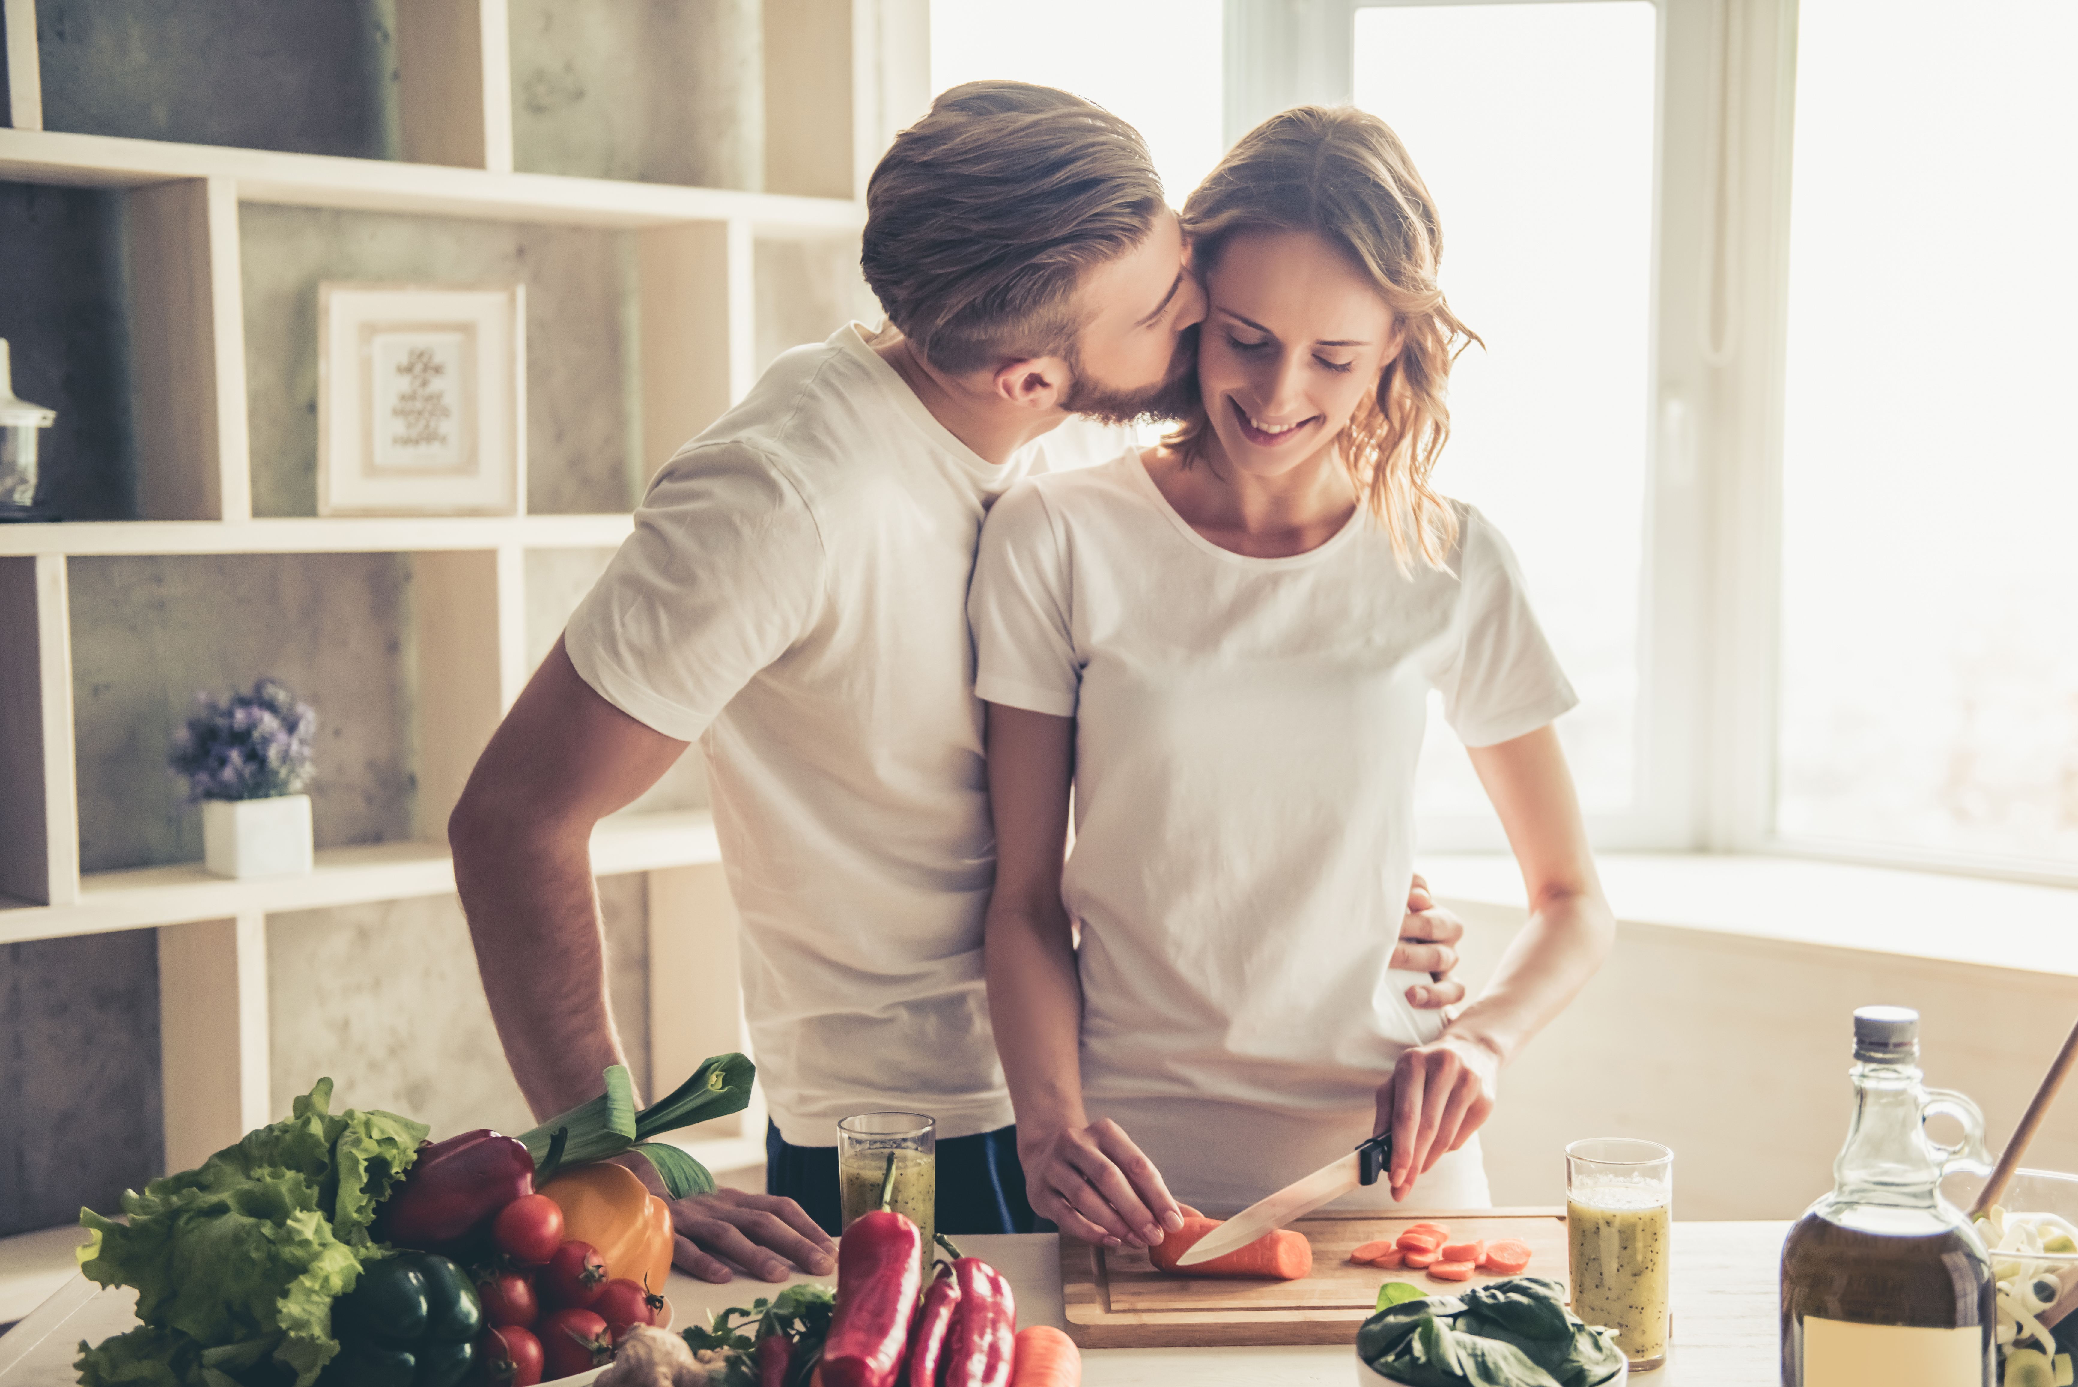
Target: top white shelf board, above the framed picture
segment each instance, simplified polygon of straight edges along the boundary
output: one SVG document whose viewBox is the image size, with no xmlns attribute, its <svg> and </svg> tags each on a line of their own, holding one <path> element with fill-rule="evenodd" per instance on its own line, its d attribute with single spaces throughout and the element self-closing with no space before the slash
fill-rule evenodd
<svg viewBox="0 0 2078 1387">
<path fill-rule="evenodd" d="M 75 187 L 143 187 L 231 179 L 241 202 L 303 208 L 476 216 L 557 227 L 669 227 L 742 220 L 763 235 L 856 231 L 864 206 L 840 198 L 744 193 L 667 183 L 613 183 L 547 173 L 276 154 L 222 146 L 0 129 L 0 179 Z"/>
</svg>

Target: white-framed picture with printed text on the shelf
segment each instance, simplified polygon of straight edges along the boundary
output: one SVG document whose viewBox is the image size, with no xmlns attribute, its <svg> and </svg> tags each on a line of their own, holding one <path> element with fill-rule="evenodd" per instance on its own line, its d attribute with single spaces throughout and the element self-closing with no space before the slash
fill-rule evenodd
<svg viewBox="0 0 2078 1387">
<path fill-rule="evenodd" d="M 517 516 L 526 285 L 318 285 L 318 514 Z"/>
</svg>

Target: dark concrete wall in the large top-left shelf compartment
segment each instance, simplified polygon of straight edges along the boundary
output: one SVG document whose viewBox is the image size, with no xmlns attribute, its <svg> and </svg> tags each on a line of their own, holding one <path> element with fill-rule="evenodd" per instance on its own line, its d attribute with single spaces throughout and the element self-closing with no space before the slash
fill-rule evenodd
<svg viewBox="0 0 2078 1387">
<path fill-rule="evenodd" d="M 44 129 L 397 158 L 393 0 L 35 0 Z"/>
</svg>

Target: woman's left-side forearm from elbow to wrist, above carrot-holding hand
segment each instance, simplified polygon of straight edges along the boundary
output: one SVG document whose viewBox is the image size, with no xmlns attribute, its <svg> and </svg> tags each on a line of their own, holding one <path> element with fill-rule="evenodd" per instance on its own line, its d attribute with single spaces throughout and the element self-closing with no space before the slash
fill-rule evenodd
<svg viewBox="0 0 2078 1387">
<path fill-rule="evenodd" d="M 1083 982 L 1068 921 L 989 911 L 989 1017 L 1018 1123 L 1083 1127 Z"/>
</svg>

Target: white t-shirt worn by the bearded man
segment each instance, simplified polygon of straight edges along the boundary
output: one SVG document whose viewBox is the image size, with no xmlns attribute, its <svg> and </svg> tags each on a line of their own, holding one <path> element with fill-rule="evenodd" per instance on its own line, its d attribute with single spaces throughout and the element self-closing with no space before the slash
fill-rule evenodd
<svg viewBox="0 0 2078 1387">
<path fill-rule="evenodd" d="M 989 464 L 846 326 L 665 464 L 569 618 L 584 682 L 707 755 L 752 1056 L 796 1146 L 852 1113 L 1012 1121 L 966 586 L 1010 482 L 1118 445 L 1068 422 Z"/>
</svg>

